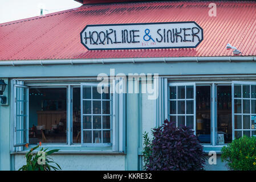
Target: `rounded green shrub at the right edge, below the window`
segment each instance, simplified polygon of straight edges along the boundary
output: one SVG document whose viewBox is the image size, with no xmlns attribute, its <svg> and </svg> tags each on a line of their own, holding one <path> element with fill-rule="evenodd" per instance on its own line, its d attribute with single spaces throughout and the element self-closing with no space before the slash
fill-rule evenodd
<svg viewBox="0 0 256 182">
<path fill-rule="evenodd" d="M 222 162 L 235 171 L 256 170 L 256 137 L 241 137 L 222 147 Z"/>
</svg>

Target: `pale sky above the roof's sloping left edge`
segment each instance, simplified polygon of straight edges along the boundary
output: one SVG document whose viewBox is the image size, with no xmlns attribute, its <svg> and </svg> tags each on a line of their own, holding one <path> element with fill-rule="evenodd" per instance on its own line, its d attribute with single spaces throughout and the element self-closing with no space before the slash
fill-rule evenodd
<svg viewBox="0 0 256 182">
<path fill-rule="evenodd" d="M 82 4 L 74 0 L 0 0 L 0 23 L 73 9 Z"/>
</svg>

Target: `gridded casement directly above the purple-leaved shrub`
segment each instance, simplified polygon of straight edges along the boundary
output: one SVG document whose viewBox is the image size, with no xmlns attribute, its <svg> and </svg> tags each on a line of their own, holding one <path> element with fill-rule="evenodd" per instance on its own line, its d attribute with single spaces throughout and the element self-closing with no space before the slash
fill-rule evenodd
<svg viewBox="0 0 256 182">
<path fill-rule="evenodd" d="M 187 126 L 196 133 L 196 84 L 169 84 L 169 120 Z"/>
</svg>

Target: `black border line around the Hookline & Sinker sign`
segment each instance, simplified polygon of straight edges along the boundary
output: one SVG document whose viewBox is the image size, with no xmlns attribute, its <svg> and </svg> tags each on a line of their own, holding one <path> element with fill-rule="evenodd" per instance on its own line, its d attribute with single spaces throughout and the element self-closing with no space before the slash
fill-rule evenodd
<svg viewBox="0 0 256 182">
<path fill-rule="evenodd" d="M 86 44 L 83 43 L 82 40 L 82 32 L 86 30 L 87 27 L 101 27 L 101 26 L 128 26 L 128 25 L 143 25 L 143 24 L 178 24 L 178 23 L 194 23 L 198 26 L 198 28 L 202 31 L 202 39 L 196 44 L 196 46 L 188 46 L 188 47 L 143 47 L 143 48 L 88 48 Z M 199 26 L 194 21 L 188 21 L 188 22 L 156 22 L 156 23 L 120 23 L 120 24 L 87 24 L 86 27 L 83 28 L 83 30 L 80 32 L 80 41 L 83 44 L 84 47 L 88 49 L 88 51 L 103 51 L 103 50 L 129 50 L 129 49 L 174 49 L 174 48 L 196 48 L 201 42 L 204 40 L 204 31 L 202 27 Z"/>
</svg>

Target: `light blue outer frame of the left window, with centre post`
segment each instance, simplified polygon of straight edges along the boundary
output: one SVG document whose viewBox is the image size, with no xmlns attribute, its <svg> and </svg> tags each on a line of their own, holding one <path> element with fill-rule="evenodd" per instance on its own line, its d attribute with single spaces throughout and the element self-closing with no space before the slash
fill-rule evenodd
<svg viewBox="0 0 256 182">
<path fill-rule="evenodd" d="M 14 85 L 17 83 L 21 83 L 22 86 L 26 87 L 28 90 L 29 88 L 39 88 L 39 87 L 51 87 L 51 88 L 58 88 L 58 87 L 63 87 L 66 86 L 67 87 L 67 144 L 64 143 L 42 143 L 43 147 L 53 147 L 56 148 L 58 147 L 60 149 L 60 152 L 79 152 L 79 153 L 83 153 L 86 152 L 90 153 L 90 154 L 94 154 L 96 153 L 124 153 L 125 152 L 125 94 L 117 94 L 117 93 L 113 93 L 112 97 L 111 97 L 111 143 L 108 144 L 103 144 L 103 145 L 87 145 L 84 146 L 82 143 L 73 143 L 72 141 L 72 90 L 75 87 L 81 87 L 82 84 L 92 84 L 92 85 L 97 85 L 98 82 L 81 82 L 81 81 L 71 81 L 71 82 L 61 82 L 61 79 L 57 79 L 60 80 L 60 82 L 52 82 L 52 83 L 47 83 L 46 82 L 38 82 L 36 79 L 32 79 L 35 80 L 32 83 L 30 82 L 26 82 L 26 78 L 22 79 L 23 81 L 19 81 L 19 80 L 11 80 L 11 113 L 14 113 L 14 109 L 15 109 L 15 103 L 14 103 L 14 98 L 15 98 L 15 93 L 14 93 Z M 28 79 L 31 80 L 31 79 Z M 116 84 L 116 80 L 111 80 L 112 84 Z M 109 84 L 108 84 L 109 85 Z M 29 94 L 29 91 L 28 91 Z M 82 93 L 81 93 L 82 95 Z M 27 97 L 29 98 L 29 97 Z M 112 101 L 113 99 L 113 101 Z M 28 105 L 29 107 L 29 105 Z M 27 109 L 27 111 L 29 111 Z M 29 122 L 29 117 L 27 117 L 27 122 Z M 21 147 L 19 146 L 14 146 L 15 144 L 15 133 L 14 133 L 14 123 L 15 123 L 15 118 L 14 115 L 12 114 L 11 116 L 11 135 L 13 137 L 11 137 L 11 146 L 10 146 L 10 151 L 11 153 L 13 152 L 22 152 L 22 151 L 26 151 L 28 149 L 26 149 L 25 147 L 22 147 L 23 144 L 29 142 L 29 133 L 27 132 L 27 137 L 26 137 L 26 142 L 22 142 L 20 144 Z M 27 131 L 29 130 L 29 125 L 27 124 Z M 34 147 L 35 145 L 30 145 L 30 147 Z"/>
</svg>

